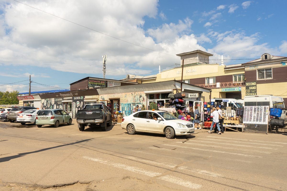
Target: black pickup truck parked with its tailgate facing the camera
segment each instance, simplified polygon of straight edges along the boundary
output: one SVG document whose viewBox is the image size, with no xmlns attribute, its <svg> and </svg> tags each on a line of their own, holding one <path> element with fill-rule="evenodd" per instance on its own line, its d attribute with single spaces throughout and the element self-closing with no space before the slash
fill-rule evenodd
<svg viewBox="0 0 287 191">
<path fill-rule="evenodd" d="M 84 131 L 86 126 L 95 127 L 100 124 L 102 131 L 106 131 L 107 126 L 112 125 L 112 114 L 102 103 L 86 104 L 83 109 L 77 111 L 77 123 L 80 131 Z"/>
</svg>

